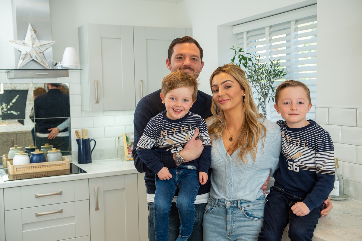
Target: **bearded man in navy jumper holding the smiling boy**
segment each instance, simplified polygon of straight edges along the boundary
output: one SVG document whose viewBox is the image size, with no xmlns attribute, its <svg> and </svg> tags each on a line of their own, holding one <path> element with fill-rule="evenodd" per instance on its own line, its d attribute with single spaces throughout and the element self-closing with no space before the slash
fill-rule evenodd
<svg viewBox="0 0 362 241">
<path fill-rule="evenodd" d="M 166 59 L 166 65 L 169 70 L 172 72 L 182 70 L 187 72 L 189 75 L 198 77 L 202 71 L 204 62 L 202 61 L 203 50 L 199 43 L 191 38 L 190 36 L 185 36 L 182 38 L 176 38 L 171 42 L 171 45 L 168 48 L 168 58 Z M 143 130 L 147 125 L 147 122 L 151 120 L 152 117 L 156 116 L 158 113 L 165 110 L 165 105 L 162 104 L 160 98 L 160 91 L 157 90 L 145 97 L 143 97 L 135 110 L 134 114 L 134 142 L 133 145 L 135 148 L 132 150 L 132 156 L 134 160 L 135 167 L 140 173 L 145 173 L 145 183 L 147 188 L 147 201 L 148 201 L 148 239 L 150 241 L 155 240 L 155 227 L 153 223 L 153 199 L 155 197 L 155 173 L 147 168 L 146 164 L 141 161 L 136 152 L 136 146 L 139 141 L 139 138 L 143 134 Z M 202 91 L 198 91 L 197 100 L 190 108 L 190 112 L 200 115 L 204 119 L 211 116 L 211 96 L 205 94 Z M 183 158 L 184 162 L 192 161 L 199 157 L 202 153 L 203 146 L 200 140 L 196 139 L 198 132 L 195 132 L 194 137 L 188 141 L 180 151 L 180 157 Z M 176 153 L 173 155 L 160 155 L 154 151 L 161 162 L 168 169 L 177 167 L 174 158 Z M 209 170 L 210 176 L 210 170 Z M 269 182 L 269 180 L 267 181 Z M 266 184 L 262 186 L 262 189 L 266 189 Z M 203 212 L 205 210 L 207 200 L 209 200 L 209 191 L 210 191 L 210 179 L 207 180 L 205 185 L 201 185 L 195 200 L 195 222 L 193 232 L 188 240 L 190 241 L 202 241 L 202 219 Z M 173 201 L 176 200 L 176 197 Z M 329 212 L 329 211 L 328 211 Z M 328 214 L 328 213 L 327 213 Z M 178 216 L 178 211 L 176 204 L 173 202 L 170 211 L 169 219 L 169 240 L 176 240 L 178 237 L 180 227 L 180 220 Z"/>
</svg>

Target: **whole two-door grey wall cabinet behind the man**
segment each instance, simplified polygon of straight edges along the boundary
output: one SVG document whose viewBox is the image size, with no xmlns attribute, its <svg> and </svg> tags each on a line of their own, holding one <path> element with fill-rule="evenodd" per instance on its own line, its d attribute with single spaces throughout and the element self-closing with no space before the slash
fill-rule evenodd
<svg viewBox="0 0 362 241">
<path fill-rule="evenodd" d="M 78 33 L 82 110 L 117 111 L 161 88 L 168 46 L 192 29 L 85 24 Z"/>
</svg>

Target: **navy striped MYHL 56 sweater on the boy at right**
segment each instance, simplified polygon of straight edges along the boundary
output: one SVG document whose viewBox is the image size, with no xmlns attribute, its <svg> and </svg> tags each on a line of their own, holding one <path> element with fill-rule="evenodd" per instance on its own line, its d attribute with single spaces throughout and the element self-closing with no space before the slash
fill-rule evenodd
<svg viewBox="0 0 362 241">
<path fill-rule="evenodd" d="M 332 138 L 315 121 L 303 128 L 289 128 L 277 121 L 282 132 L 279 169 L 275 186 L 305 197 L 303 203 L 312 210 L 327 200 L 334 187 L 334 147 Z"/>
</svg>

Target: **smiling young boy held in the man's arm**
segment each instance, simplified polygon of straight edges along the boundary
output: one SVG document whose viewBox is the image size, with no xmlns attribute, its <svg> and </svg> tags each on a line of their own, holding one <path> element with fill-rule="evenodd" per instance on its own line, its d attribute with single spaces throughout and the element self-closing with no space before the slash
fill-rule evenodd
<svg viewBox="0 0 362 241">
<path fill-rule="evenodd" d="M 205 184 L 211 165 L 211 140 L 201 116 L 189 112 L 197 97 L 198 82 L 184 71 L 172 72 L 162 81 L 161 100 L 166 110 L 153 117 L 144 129 L 137 144 L 137 154 L 147 167 L 156 173 L 154 208 L 156 241 L 168 240 L 168 222 L 171 202 L 176 189 L 177 208 L 180 215 L 180 232 L 177 238 L 187 240 L 195 220 L 194 201 L 200 184 Z M 199 129 L 198 138 L 203 143 L 200 157 L 184 163 L 180 151 Z M 176 153 L 178 167 L 168 170 L 151 150 L 161 154 Z"/>
</svg>

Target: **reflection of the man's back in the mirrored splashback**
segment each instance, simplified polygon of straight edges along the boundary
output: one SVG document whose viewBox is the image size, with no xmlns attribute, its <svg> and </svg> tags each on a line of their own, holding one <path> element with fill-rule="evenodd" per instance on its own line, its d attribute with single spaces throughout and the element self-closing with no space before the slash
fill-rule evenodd
<svg viewBox="0 0 362 241">
<path fill-rule="evenodd" d="M 35 144 L 42 146 L 49 143 L 56 149 L 69 150 L 68 127 L 62 130 L 57 127 L 70 117 L 69 96 L 59 90 L 61 84 L 46 86 L 49 91 L 34 99 Z"/>
</svg>

